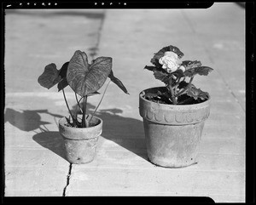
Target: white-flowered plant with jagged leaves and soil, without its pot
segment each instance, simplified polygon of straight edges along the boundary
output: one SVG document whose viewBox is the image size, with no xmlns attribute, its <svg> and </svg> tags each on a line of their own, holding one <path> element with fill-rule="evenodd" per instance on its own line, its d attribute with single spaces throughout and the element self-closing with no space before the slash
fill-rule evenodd
<svg viewBox="0 0 256 205">
<path fill-rule="evenodd" d="M 154 77 L 166 84 L 156 94 L 145 94 L 147 100 L 170 105 L 190 105 L 209 98 L 207 92 L 196 88 L 192 81 L 195 75 L 207 76 L 213 69 L 202 66 L 198 60 L 184 60 L 183 52 L 175 46 L 161 48 L 151 59 L 153 64 L 144 69 L 153 71 Z M 189 78 L 189 80 L 188 80 Z"/>
</svg>

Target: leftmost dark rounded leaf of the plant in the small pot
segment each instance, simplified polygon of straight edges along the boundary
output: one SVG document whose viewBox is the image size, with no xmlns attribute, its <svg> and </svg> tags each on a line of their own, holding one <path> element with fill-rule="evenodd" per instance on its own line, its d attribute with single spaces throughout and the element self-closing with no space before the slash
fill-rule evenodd
<svg viewBox="0 0 256 205">
<path fill-rule="evenodd" d="M 52 88 L 56 83 L 61 81 L 61 76 L 59 76 L 59 71 L 54 63 L 46 65 L 44 72 L 38 77 L 38 83 L 44 88 Z"/>
</svg>

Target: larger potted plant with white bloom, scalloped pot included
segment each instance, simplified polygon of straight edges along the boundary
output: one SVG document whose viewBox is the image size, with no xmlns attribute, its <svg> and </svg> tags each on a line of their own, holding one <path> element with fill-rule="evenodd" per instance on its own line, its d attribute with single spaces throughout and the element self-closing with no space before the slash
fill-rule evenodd
<svg viewBox="0 0 256 205">
<path fill-rule="evenodd" d="M 196 163 L 201 132 L 210 114 L 210 95 L 192 82 L 195 75 L 207 76 L 213 69 L 197 60 L 181 61 L 182 57 L 172 45 L 154 54 L 153 65 L 144 68 L 166 86 L 139 94 L 148 160 L 168 168 Z"/>
</svg>

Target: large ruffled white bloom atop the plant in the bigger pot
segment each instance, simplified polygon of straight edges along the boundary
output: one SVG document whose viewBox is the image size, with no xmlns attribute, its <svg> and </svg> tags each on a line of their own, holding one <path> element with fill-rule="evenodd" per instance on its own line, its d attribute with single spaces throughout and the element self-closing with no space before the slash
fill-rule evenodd
<svg viewBox="0 0 256 205">
<path fill-rule="evenodd" d="M 159 63 L 162 65 L 162 68 L 167 72 L 171 73 L 177 70 L 177 54 L 172 51 L 167 51 L 163 57 L 160 58 Z"/>
</svg>

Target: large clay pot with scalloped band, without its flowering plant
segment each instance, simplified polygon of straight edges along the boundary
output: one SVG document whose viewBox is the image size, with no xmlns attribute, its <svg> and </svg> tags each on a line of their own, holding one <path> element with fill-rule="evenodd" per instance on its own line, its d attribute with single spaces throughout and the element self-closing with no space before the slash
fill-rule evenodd
<svg viewBox="0 0 256 205">
<path fill-rule="evenodd" d="M 139 94 L 148 160 L 168 168 L 186 167 L 197 162 L 204 122 L 210 114 L 210 98 L 194 105 L 166 105 L 146 100 L 148 88 Z"/>
</svg>

